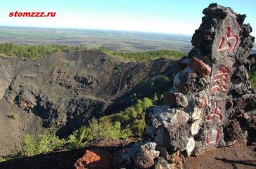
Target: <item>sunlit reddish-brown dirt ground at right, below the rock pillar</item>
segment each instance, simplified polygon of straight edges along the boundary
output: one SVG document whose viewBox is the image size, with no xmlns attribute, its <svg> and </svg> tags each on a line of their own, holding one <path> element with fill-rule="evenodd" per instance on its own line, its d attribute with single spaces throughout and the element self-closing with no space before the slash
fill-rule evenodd
<svg viewBox="0 0 256 169">
<path fill-rule="evenodd" d="M 209 150 L 201 156 L 186 159 L 185 169 L 194 168 L 256 168 L 256 148 L 237 143 L 231 147 Z"/>
</svg>

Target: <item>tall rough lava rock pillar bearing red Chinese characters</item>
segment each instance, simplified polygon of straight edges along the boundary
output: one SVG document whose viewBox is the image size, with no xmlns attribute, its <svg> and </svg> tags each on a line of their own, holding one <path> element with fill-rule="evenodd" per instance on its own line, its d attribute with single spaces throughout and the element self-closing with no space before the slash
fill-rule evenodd
<svg viewBox="0 0 256 169">
<path fill-rule="evenodd" d="M 203 13 L 194 48 L 180 60 L 166 105 L 146 113 L 149 139 L 188 155 L 246 138 L 239 120 L 256 107 L 248 81 L 254 37 L 251 26 L 243 24 L 246 16 L 217 4 Z"/>
</svg>

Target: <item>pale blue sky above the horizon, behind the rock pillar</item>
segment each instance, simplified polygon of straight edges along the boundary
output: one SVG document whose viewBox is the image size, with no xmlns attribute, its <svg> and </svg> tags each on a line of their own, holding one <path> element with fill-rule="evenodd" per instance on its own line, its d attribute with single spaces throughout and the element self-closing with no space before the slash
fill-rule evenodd
<svg viewBox="0 0 256 169">
<path fill-rule="evenodd" d="M 44 0 L 0 2 L 0 25 L 110 29 L 192 35 L 202 10 L 212 2 L 247 14 L 256 35 L 256 1 L 172 0 Z M 57 12 L 55 18 L 10 18 L 9 12 Z"/>
</svg>

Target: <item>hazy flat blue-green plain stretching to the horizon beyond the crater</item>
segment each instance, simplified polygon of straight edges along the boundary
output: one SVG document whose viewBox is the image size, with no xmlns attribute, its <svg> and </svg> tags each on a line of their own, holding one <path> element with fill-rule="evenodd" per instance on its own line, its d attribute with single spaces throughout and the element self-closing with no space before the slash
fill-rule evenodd
<svg viewBox="0 0 256 169">
<path fill-rule="evenodd" d="M 169 49 L 188 53 L 192 49 L 191 38 L 169 33 L 0 26 L 0 43 L 105 46 L 122 52 Z M 256 53 L 255 47 L 251 53 Z"/>
</svg>

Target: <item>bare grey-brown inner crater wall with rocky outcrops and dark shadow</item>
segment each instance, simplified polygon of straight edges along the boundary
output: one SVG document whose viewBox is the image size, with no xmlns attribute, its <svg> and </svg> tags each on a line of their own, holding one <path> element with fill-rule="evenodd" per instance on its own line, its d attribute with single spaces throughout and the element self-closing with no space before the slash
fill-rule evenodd
<svg viewBox="0 0 256 169">
<path fill-rule="evenodd" d="M 117 113 L 132 104 L 131 96 L 151 96 L 172 76 L 177 64 L 121 62 L 96 50 L 55 53 L 54 56 L 22 60 L 0 58 L 0 155 L 19 149 L 24 134 L 58 127 L 66 136 L 92 117 Z M 151 85 L 150 85 L 151 84 Z M 16 113 L 17 119 L 9 114 Z"/>
</svg>

